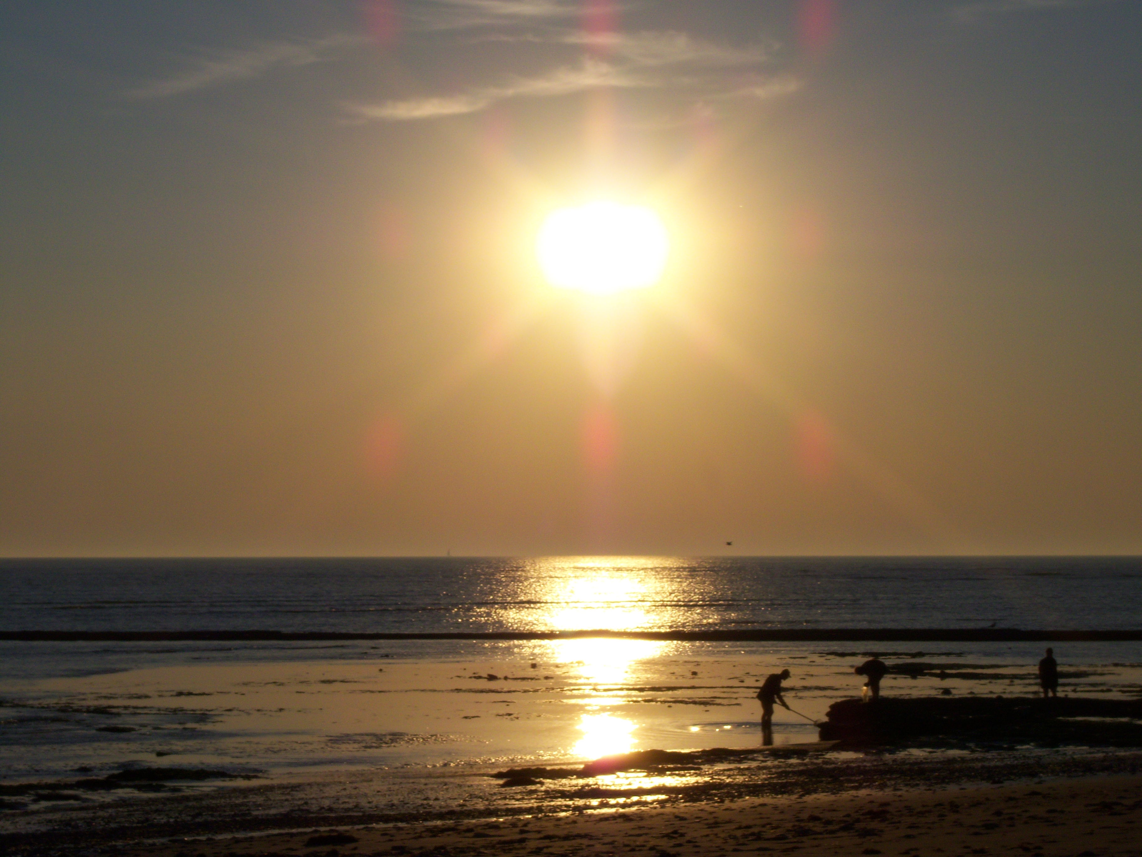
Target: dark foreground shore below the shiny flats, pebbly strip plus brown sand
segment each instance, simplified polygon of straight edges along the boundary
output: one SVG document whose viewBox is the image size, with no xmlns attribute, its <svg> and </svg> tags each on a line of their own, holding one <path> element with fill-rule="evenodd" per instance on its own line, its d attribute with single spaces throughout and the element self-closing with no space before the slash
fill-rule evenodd
<svg viewBox="0 0 1142 857">
<path fill-rule="evenodd" d="M 410 768 L 176 786 L 104 804 L 64 806 L 61 793 L 51 809 L 7 814 L 0 851 L 1137 854 L 1137 751 L 731 753 L 525 787 L 491 770 Z"/>
</svg>

